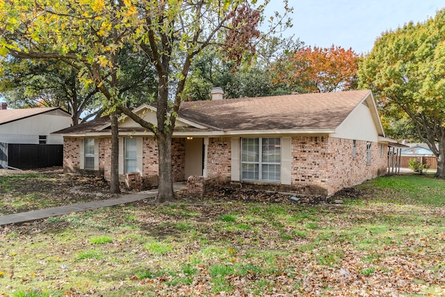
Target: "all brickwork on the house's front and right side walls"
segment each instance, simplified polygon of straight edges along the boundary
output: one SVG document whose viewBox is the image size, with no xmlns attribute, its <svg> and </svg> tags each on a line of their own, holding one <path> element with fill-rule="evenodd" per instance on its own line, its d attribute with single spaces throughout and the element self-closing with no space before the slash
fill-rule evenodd
<svg viewBox="0 0 445 297">
<path fill-rule="evenodd" d="M 380 156 L 380 144 L 372 143 L 371 163 L 366 163 L 366 141 L 326 136 L 292 138 L 291 188 L 298 193 L 331 195 L 341 188 L 384 175 L 387 169 L 387 146 Z M 79 138 L 64 139 L 65 172 L 81 172 Z M 207 169 L 209 177 L 230 179 L 232 138 L 209 138 Z M 111 138 L 99 139 L 99 171 L 110 178 Z M 185 140 L 172 141 L 173 180 L 184 180 Z M 143 175 L 158 173 L 158 148 L 153 138 L 143 138 Z"/>
</svg>

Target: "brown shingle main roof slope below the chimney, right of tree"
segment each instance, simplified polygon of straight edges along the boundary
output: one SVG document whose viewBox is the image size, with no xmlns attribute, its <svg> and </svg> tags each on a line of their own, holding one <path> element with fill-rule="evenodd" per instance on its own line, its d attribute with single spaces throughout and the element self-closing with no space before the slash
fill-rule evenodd
<svg viewBox="0 0 445 297">
<path fill-rule="evenodd" d="M 225 131 L 334 129 L 369 90 L 183 102 L 179 116 Z"/>
</svg>

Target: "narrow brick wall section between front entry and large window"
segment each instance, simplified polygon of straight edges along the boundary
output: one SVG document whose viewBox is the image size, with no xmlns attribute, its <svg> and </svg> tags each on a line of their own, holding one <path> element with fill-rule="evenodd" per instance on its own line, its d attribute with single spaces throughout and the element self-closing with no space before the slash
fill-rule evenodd
<svg viewBox="0 0 445 297">
<path fill-rule="evenodd" d="M 209 138 L 207 148 L 207 172 L 209 177 L 220 176 L 230 180 L 232 162 L 232 138 Z"/>
</svg>

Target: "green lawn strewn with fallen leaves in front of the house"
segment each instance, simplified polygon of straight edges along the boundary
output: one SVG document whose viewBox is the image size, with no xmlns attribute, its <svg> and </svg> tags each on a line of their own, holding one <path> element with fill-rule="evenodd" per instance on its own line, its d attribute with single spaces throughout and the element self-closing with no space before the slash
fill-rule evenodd
<svg viewBox="0 0 445 297">
<path fill-rule="evenodd" d="M 0 296 L 445 296 L 445 181 L 358 188 L 341 205 L 139 204 L 6 226 Z"/>
</svg>

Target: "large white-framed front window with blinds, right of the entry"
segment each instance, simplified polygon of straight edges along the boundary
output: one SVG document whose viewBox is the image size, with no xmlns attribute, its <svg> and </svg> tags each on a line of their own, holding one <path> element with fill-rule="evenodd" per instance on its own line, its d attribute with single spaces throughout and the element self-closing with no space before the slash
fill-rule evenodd
<svg viewBox="0 0 445 297">
<path fill-rule="evenodd" d="M 280 182 L 280 138 L 241 139 L 241 179 Z"/>
</svg>

